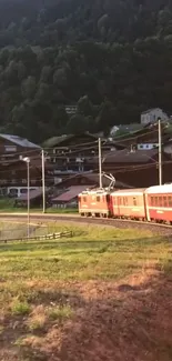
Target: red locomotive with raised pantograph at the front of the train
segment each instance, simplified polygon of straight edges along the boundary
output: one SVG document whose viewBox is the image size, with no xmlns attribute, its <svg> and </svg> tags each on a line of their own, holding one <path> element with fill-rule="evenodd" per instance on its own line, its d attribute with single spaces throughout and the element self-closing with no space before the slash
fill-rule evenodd
<svg viewBox="0 0 172 361">
<path fill-rule="evenodd" d="M 111 217 L 110 192 L 107 190 L 92 190 L 80 193 L 79 213 L 87 217 Z"/>
</svg>

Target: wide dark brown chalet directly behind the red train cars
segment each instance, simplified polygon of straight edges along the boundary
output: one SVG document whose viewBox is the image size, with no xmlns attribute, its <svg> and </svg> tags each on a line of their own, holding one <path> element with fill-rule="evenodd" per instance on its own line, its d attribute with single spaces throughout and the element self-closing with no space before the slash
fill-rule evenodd
<svg viewBox="0 0 172 361">
<path fill-rule="evenodd" d="M 95 167 L 98 158 L 94 158 Z M 163 182 L 172 182 L 171 157 L 162 152 Z M 159 150 L 124 149 L 107 153 L 102 159 L 104 172 L 111 172 L 119 181 L 132 187 L 150 187 L 159 184 Z"/>
</svg>

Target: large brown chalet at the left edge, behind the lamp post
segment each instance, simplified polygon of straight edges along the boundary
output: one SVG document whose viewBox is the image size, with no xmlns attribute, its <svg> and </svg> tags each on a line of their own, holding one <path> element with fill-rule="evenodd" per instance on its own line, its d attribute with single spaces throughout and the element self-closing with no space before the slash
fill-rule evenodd
<svg viewBox="0 0 172 361">
<path fill-rule="evenodd" d="M 30 158 L 31 190 L 41 187 L 41 147 L 18 136 L 0 133 L 0 194 L 14 197 L 27 192 L 27 164 L 21 156 Z"/>
</svg>

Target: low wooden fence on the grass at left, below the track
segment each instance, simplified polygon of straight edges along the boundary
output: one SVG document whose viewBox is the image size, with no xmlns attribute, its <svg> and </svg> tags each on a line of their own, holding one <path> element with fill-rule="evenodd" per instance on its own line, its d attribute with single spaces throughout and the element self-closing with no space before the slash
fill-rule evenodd
<svg viewBox="0 0 172 361">
<path fill-rule="evenodd" d="M 60 238 L 65 238 L 65 237 L 69 237 L 69 238 L 73 237 L 73 232 L 72 231 L 63 231 L 63 232 L 44 234 L 44 235 L 3 239 L 3 240 L 0 240 L 0 242 L 7 243 L 7 242 L 13 242 L 13 241 L 44 241 L 44 240 L 48 241 L 48 240 L 58 240 Z"/>
</svg>

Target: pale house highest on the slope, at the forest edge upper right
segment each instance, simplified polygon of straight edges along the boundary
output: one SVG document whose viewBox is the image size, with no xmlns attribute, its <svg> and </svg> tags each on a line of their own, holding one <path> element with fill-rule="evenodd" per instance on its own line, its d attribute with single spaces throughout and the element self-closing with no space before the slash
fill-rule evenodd
<svg viewBox="0 0 172 361">
<path fill-rule="evenodd" d="M 160 108 L 152 108 L 141 113 L 141 124 L 154 123 L 161 118 L 162 121 L 169 120 L 168 114 Z"/>
</svg>

